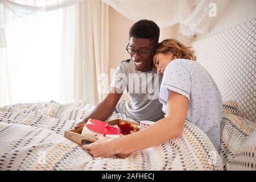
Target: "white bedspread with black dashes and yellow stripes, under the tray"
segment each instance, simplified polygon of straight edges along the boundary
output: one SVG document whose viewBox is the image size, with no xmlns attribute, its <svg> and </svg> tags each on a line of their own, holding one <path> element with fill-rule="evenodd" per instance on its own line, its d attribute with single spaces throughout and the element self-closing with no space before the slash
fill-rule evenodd
<svg viewBox="0 0 256 182">
<path fill-rule="evenodd" d="M 185 122 L 183 134 L 126 159 L 92 158 L 64 138 L 93 106 L 54 101 L 0 108 L 0 170 L 222 170 L 220 155 L 203 131 Z M 115 114 L 109 118 L 126 118 Z"/>
</svg>

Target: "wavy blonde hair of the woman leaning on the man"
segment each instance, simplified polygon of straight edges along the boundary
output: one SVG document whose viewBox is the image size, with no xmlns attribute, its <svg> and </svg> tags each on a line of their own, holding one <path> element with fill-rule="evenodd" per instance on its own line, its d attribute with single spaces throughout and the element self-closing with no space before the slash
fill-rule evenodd
<svg viewBox="0 0 256 182">
<path fill-rule="evenodd" d="M 176 39 L 166 39 L 156 46 L 155 55 L 157 53 L 171 52 L 173 59 L 190 59 L 196 61 L 195 51 L 192 47 L 185 47 Z"/>
</svg>

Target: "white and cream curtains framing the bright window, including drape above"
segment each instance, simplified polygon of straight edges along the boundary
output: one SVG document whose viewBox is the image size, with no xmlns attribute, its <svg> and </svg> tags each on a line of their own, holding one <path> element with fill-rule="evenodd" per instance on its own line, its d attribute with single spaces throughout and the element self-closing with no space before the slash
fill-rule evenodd
<svg viewBox="0 0 256 182">
<path fill-rule="evenodd" d="M 79 99 L 95 105 L 105 97 L 97 78 L 108 73 L 108 5 L 100 0 L 1 0 L 0 7 L 4 10 L 0 12 L 3 17 L 1 27 L 19 18 L 63 9 L 59 65 L 61 102 Z M 4 30 L 0 38 L 2 47 L 8 48 L 8 40 L 3 41 L 6 38 Z M 0 70 L 0 77 L 9 81 L 6 57 L 1 60 L 3 63 L 6 66 L 1 68 L 6 69 L 5 72 Z M 0 88 L 5 88 L 5 92 L 1 90 L 1 98 L 8 98 L 11 95 L 8 90 L 13 91 L 7 83 L 0 82 Z M 6 104 L 12 103 L 5 101 L 2 105 Z"/>
</svg>

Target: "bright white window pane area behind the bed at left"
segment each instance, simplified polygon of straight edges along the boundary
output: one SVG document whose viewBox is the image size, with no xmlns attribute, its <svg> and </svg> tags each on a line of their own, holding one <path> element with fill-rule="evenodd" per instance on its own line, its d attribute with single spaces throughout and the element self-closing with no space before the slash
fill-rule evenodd
<svg viewBox="0 0 256 182">
<path fill-rule="evenodd" d="M 11 104 L 60 102 L 63 10 L 6 24 Z"/>
</svg>

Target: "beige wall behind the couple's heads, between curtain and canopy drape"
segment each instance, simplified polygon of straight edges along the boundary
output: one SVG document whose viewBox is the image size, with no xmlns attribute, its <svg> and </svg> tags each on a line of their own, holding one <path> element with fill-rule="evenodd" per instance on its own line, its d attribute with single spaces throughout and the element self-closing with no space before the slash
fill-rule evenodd
<svg viewBox="0 0 256 182">
<path fill-rule="evenodd" d="M 109 77 L 112 77 L 113 71 L 110 69 L 117 68 L 120 61 L 129 59 L 129 54 L 125 48 L 129 43 L 129 30 L 135 22 L 119 14 L 111 6 L 109 6 Z M 181 43 L 190 46 L 191 39 L 184 38 L 177 31 L 177 24 L 172 27 L 160 28 L 160 38 L 162 41 L 167 38 L 176 38 Z M 123 94 L 123 99 L 127 100 L 126 94 Z"/>
</svg>

